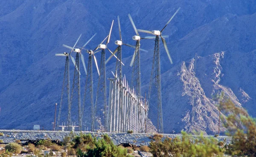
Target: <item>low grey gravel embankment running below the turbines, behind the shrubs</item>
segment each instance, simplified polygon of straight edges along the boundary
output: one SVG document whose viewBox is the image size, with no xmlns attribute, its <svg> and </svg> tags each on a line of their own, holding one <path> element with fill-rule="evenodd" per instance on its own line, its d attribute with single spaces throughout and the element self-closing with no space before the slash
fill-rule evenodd
<svg viewBox="0 0 256 157">
<path fill-rule="evenodd" d="M 34 130 L 0 130 L 0 132 L 4 133 L 4 136 L 0 136 L 0 140 L 3 142 L 10 143 L 15 140 L 21 139 L 46 139 L 50 138 L 52 140 L 63 140 L 65 136 L 70 135 L 70 132 L 67 131 L 34 131 Z M 79 135 L 80 132 L 74 132 L 76 135 Z M 116 145 L 120 143 L 125 143 L 128 141 L 131 144 L 135 144 L 137 146 L 140 145 L 149 145 L 150 138 L 154 134 L 127 134 L 127 133 L 113 133 L 113 132 L 82 132 L 84 134 L 92 134 L 96 137 L 101 137 L 101 135 L 108 134 L 109 137 L 113 140 L 113 143 Z M 180 134 L 163 134 L 164 137 L 177 137 L 181 136 Z M 206 136 L 212 137 L 212 136 Z M 218 140 L 223 141 L 227 139 L 227 143 L 230 143 L 231 137 L 228 136 L 219 136 Z"/>
</svg>

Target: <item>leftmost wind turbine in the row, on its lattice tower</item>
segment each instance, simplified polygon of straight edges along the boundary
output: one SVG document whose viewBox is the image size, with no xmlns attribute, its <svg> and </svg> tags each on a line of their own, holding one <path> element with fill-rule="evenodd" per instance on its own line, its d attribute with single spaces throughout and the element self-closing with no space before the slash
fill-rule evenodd
<svg viewBox="0 0 256 157">
<path fill-rule="evenodd" d="M 64 53 L 57 53 L 55 56 L 66 56 L 66 63 L 65 63 L 65 70 L 64 70 L 64 77 L 63 77 L 63 84 L 61 90 L 61 103 L 59 107 L 58 113 L 58 121 L 57 126 L 59 126 L 60 118 L 61 118 L 61 107 L 63 105 L 63 98 L 67 97 L 67 106 L 70 106 L 70 73 L 69 73 L 69 54 Z"/>
</svg>

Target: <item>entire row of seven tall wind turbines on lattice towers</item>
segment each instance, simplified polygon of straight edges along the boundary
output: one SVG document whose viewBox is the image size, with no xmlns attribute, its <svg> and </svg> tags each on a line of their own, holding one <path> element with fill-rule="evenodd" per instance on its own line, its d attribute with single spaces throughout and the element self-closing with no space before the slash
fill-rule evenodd
<svg viewBox="0 0 256 157">
<path fill-rule="evenodd" d="M 139 97 L 142 98 L 141 93 L 141 71 L 140 71 L 140 50 L 143 50 L 140 48 L 140 40 L 141 39 L 155 39 L 155 45 L 154 45 L 154 55 L 153 55 L 153 64 L 152 64 L 152 70 L 151 70 L 151 78 L 150 78 L 150 84 L 149 84 L 149 102 L 150 102 L 150 95 L 151 91 L 155 88 L 157 90 L 157 132 L 163 133 L 163 112 L 162 112 L 162 93 L 161 93 L 161 77 L 160 77 L 160 52 L 159 52 L 159 36 L 163 42 L 163 46 L 166 50 L 166 54 L 169 58 L 170 63 L 172 64 L 172 58 L 169 54 L 169 50 L 167 48 L 166 40 L 165 38 L 169 36 L 162 35 L 163 30 L 166 28 L 166 26 L 171 22 L 171 20 L 175 17 L 177 12 L 180 10 L 180 8 L 177 9 L 175 14 L 169 19 L 169 21 L 166 23 L 166 25 L 163 27 L 161 31 L 153 30 L 153 31 L 147 31 L 143 29 L 137 29 L 134 21 L 130 14 L 128 14 L 128 18 L 131 21 L 131 24 L 134 28 L 135 35 L 132 36 L 132 39 L 136 41 L 136 45 L 130 45 L 125 44 L 122 42 L 122 34 L 121 34 L 121 26 L 120 26 L 120 20 L 119 16 L 117 16 L 117 22 L 119 27 L 119 37 L 120 40 L 116 40 L 115 44 L 117 45 L 117 48 L 112 52 L 108 48 L 108 43 L 110 42 L 111 38 L 111 32 L 113 28 L 113 22 L 111 24 L 111 28 L 109 31 L 109 34 L 103 39 L 103 41 L 97 45 L 97 47 L 94 50 L 88 50 L 86 49 L 87 44 L 96 36 L 94 34 L 82 47 L 76 46 L 79 42 L 79 39 L 81 38 L 81 34 L 79 38 L 76 40 L 76 43 L 73 45 L 73 47 L 68 45 L 62 45 L 65 48 L 70 49 L 70 52 L 64 52 L 64 53 L 57 53 L 55 56 L 65 56 L 66 57 L 66 63 L 65 63 L 65 71 L 64 71 L 64 79 L 63 79 L 63 87 L 61 92 L 61 103 L 59 108 L 59 114 L 58 114 L 58 124 L 61 119 L 61 107 L 63 104 L 66 104 L 63 102 L 64 97 L 67 97 L 67 106 L 68 106 L 68 116 L 67 116 L 67 126 L 70 126 L 72 124 L 72 118 L 71 118 L 71 107 L 73 104 L 73 101 L 77 101 L 78 104 L 78 120 L 79 120 L 79 130 L 82 129 L 82 120 L 84 117 L 84 111 L 85 107 L 89 107 L 91 110 L 90 113 L 90 125 L 91 125 L 91 131 L 94 131 L 94 124 L 95 124 L 95 117 L 96 117 L 96 110 L 97 105 L 99 103 L 99 100 L 103 100 L 103 106 L 104 106 L 104 129 L 107 130 L 108 126 L 108 120 L 107 120 L 107 92 L 106 92 L 106 66 L 110 59 L 114 56 L 116 58 L 116 70 L 115 70 L 115 77 L 118 77 L 120 80 L 122 80 L 122 66 L 124 65 L 122 63 L 122 45 L 129 46 L 131 48 L 134 48 L 134 54 L 131 59 L 130 66 L 133 67 L 132 70 L 132 80 L 131 80 L 131 87 L 134 87 L 135 92 Z M 147 34 L 151 34 L 153 36 L 145 36 L 140 37 L 138 32 L 143 32 Z M 103 44 L 105 42 L 105 44 Z M 111 56 L 106 60 L 105 59 L 105 50 L 108 50 L 111 53 Z M 95 53 L 101 52 L 101 62 L 100 67 L 98 66 Z M 74 54 L 75 53 L 75 54 Z M 88 53 L 88 64 L 86 68 L 86 64 L 84 62 L 84 53 Z M 76 59 L 73 56 L 76 56 Z M 71 94 L 70 94 L 70 73 L 69 73 L 69 60 L 72 60 L 75 70 L 74 70 L 74 76 L 73 76 L 73 84 L 71 87 Z M 85 79 L 85 91 L 84 91 L 84 97 L 83 101 L 81 103 L 81 89 L 80 89 L 80 60 L 82 62 L 84 72 L 86 74 Z M 96 94 L 96 102 L 94 104 L 93 99 L 93 60 L 97 69 L 97 73 L 99 75 L 98 79 L 98 87 L 97 87 L 97 94 Z M 75 97 L 77 98 L 76 100 Z M 89 104 L 86 104 L 86 100 L 90 100 Z M 88 111 L 88 110 L 87 110 Z"/>
</svg>

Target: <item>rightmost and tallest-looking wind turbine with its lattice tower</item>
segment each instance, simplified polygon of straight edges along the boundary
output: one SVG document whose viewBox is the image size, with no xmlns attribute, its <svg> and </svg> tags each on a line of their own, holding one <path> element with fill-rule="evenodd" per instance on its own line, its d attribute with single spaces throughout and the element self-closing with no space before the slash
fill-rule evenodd
<svg viewBox="0 0 256 157">
<path fill-rule="evenodd" d="M 169 50 L 167 48 L 166 40 L 162 36 L 163 30 L 166 28 L 166 26 L 171 22 L 171 20 L 175 17 L 177 12 L 180 10 L 180 8 L 177 9 L 177 11 L 172 15 L 171 19 L 166 23 L 166 25 L 163 27 L 161 31 L 146 31 L 142 29 L 138 29 L 140 32 L 153 34 L 155 36 L 146 36 L 147 39 L 154 39 L 155 38 L 155 45 L 154 45 L 154 57 L 153 57 L 153 64 L 152 64 L 152 70 L 151 70 L 151 77 L 150 77 L 150 84 L 149 84 L 149 91 L 148 96 L 150 101 L 150 95 L 151 95 L 151 88 L 153 82 L 156 82 L 155 87 L 157 89 L 157 132 L 163 133 L 163 109 L 162 109 L 162 91 L 161 91 L 161 71 L 160 71 L 160 52 L 159 52 L 159 36 L 162 39 L 163 46 L 166 50 L 167 56 L 169 58 L 169 61 L 172 62 L 172 58 L 170 56 Z"/>
</svg>

